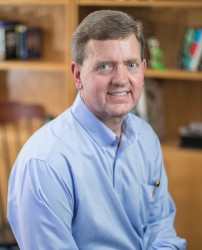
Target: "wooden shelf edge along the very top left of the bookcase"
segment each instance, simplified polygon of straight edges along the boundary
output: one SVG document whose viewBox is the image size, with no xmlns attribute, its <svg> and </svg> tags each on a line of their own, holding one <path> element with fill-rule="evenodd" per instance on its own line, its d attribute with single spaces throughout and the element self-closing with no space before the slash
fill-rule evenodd
<svg viewBox="0 0 202 250">
<path fill-rule="evenodd" d="M 67 5 L 69 0 L 0 0 L 0 5 Z"/>
</svg>

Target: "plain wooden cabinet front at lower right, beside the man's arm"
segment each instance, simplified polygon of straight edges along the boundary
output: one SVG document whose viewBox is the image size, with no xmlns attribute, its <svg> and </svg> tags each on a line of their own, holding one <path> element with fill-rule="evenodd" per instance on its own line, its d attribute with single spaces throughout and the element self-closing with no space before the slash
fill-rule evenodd
<svg viewBox="0 0 202 250">
<path fill-rule="evenodd" d="M 177 207 L 176 231 L 186 238 L 187 249 L 202 249 L 202 153 L 201 150 L 163 146 L 169 191 Z"/>
</svg>

